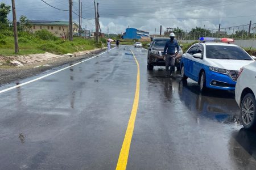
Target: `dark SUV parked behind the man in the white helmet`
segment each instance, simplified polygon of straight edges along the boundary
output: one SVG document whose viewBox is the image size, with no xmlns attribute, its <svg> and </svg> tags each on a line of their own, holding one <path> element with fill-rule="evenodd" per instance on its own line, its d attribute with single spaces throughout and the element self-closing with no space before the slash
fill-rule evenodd
<svg viewBox="0 0 256 170">
<path fill-rule="evenodd" d="M 170 41 L 170 38 L 154 38 L 148 49 L 147 54 L 147 69 L 153 70 L 154 66 L 166 66 L 166 62 L 163 60 L 163 50 L 166 45 L 166 41 Z M 180 47 L 178 55 L 182 55 L 183 51 Z M 177 71 L 180 70 L 180 59 L 175 60 L 175 67 Z"/>
</svg>

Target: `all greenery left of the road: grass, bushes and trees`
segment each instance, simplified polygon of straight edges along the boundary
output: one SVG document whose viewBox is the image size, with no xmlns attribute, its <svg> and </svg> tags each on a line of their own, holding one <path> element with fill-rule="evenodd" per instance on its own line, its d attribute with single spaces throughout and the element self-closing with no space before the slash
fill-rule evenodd
<svg viewBox="0 0 256 170">
<path fill-rule="evenodd" d="M 0 56 L 15 54 L 13 23 L 7 19 L 10 11 L 10 6 L 0 3 Z M 74 53 L 101 48 L 105 42 L 101 40 L 99 44 L 96 44 L 94 40 L 85 40 L 79 37 L 74 37 L 73 41 L 68 41 L 55 37 L 45 29 L 31 33 L 31 28 L 32 25 L 28 22 L 26 16 L 20 16 L 18 20 L 19 53 L 16 55 L 45 52 L 53 54 Z"/>
</svg>

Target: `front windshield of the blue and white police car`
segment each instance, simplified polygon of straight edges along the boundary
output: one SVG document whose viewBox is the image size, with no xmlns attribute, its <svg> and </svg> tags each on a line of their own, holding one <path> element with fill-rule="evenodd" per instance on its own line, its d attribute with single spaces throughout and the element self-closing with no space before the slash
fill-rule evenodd
<svg viewBox="0 0 256 170">
<path fill-rule="evenodd" d="M 207 45 L 206 55 L 213 59 L 253 60 L 238 46 Z"/>
</svg>

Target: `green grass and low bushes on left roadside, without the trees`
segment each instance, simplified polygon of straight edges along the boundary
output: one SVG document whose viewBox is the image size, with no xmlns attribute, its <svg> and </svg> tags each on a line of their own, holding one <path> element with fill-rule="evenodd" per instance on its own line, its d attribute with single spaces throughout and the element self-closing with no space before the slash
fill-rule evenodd
<svg viewBox="0 0 256 170">
<path fill-rule="evenodd" d="M 29 32 L 19 32 L 18 37 L 18 55 L 38 54 L 45 52 L 53 54 L 65 54 L 83 50 L 92 50 L 96 48 L 96 46 L 101 47 L 101 44 L 96 45 L 94 40 L 85 40 L 80 39 L 79 37 L 74 37 L 73 41 L 59 39 L 47 30 L 40 30 L 35 34 Z M 0 54 L 3 56 L 15 54 L 13 32 L 0 32 Z"/>
</svg>

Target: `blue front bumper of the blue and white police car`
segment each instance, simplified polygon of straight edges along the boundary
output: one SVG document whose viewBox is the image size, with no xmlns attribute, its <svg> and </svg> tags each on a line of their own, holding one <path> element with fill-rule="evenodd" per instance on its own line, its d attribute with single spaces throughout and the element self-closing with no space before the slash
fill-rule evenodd
<svg viewBox="0 0 256 170">
<path fill-rule="evenodd" d="M 236 88 L 236 83 L 230 76 L 226 74 L 209 71 L 207 74 L 206 86 L 208 88 L 215 88 L 219 90 L 232 90 Z"/>
</svg>

